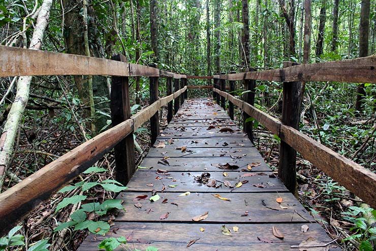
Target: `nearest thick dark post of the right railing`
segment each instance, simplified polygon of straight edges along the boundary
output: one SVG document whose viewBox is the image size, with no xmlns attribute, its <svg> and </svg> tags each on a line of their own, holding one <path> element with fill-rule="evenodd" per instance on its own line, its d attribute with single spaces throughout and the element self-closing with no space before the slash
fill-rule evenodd
<svg viewBox="0 0 376 251">
<path fill-rule="evenodd" d="M 285 62 L 284 68 L 296 65 Z M 284 70 L 281 69 L 281 80 L 284 81 Z M 283 83 L 282 124 L 299 129 L 301 82 Z M 279 135 L 280 136 L 280 135 Z M 281 141 L 279 147 L 278 176 L 289 191 L 296 194 L 296 151 Z"/>
</svg>

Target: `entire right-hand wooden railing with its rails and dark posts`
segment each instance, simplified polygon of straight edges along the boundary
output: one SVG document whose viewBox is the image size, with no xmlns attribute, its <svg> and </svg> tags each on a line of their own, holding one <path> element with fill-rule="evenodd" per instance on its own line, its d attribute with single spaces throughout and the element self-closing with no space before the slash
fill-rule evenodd
<svg viewBox="0 0 376 251">
<path fill-rule="evenodd" d="M 229 114 L 233 116 L 233 105 L 243 110 L 244 131 L 253 141 L 250 116 L 264 125 L 281 139 L 278 176 L 293 193 L 296 191 L 296 152 L 310 161 L 339 184 L 343 185 L 371 207 L 376 208 L 376 174 L 354 161 L 332 151 L 307 135 L 299 132 L 301 81 L 338 81 L 376 83 L 376 57 L 333 61 L 317 64 L 292 66 L 283 69 L 264 71 L 251 70 L 244 73 L 214 75 L 213 97 L 225 107 L 229 100 Z M 249 91 L 240 100 L 226 92 L 234 90 L 234 80 L 244 80 L 245 90 Z M 264 113 L 254 106 L 256 80 L 283 82 L 282 120 Z M 221 99 L 220 99 L 221 98 Z"/>
</svg>

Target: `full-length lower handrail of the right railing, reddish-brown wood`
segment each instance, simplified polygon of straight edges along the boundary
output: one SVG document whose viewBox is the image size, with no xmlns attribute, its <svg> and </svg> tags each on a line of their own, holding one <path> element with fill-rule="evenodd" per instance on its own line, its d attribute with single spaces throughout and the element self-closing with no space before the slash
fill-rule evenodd
<svg viewBox="0 0 376 251">
<path fill-rule="evenodd" d="M 213 91 L 225 97 L 246 114 L 259 121 L 269 131 L 278 135 L 282 141 L 299 152 L 303 158 L 352 191 L 371 207 L 376 208 L 376 194 L 374 193 L 376 191 L 376 174 L 318 143 L 298 130 L 283 125 L 278 119 L 271 117 L 255 106 L 216 88 Z"/>
</svg>

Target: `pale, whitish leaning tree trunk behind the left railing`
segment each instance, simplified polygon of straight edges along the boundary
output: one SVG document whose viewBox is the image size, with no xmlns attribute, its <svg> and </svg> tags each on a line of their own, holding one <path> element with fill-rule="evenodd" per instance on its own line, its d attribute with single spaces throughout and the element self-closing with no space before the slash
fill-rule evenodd
<svg viewBox="0 0 376 251">
<path fill-rule="evenodd" d="M 44 0 L 37 18 L 37 23 L 33 32 L 29 49 L 39 50 L 43 39 L 43 34 L 48 24 L 52 0 Z M 9 160 L 13 153 L 13 145 L 20 126 L 23 112 L 29 98 L 30 82 L 33 76 L 20 77 L 17 82 L 17 93 L 8 114 L 7 122 L 4 125 L 3 133 L 0 137 L 0 191 L 4 183 L 5 171 L 9 167 Z"/>
</svg>

